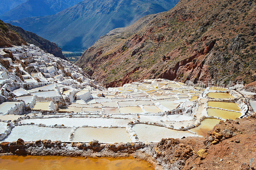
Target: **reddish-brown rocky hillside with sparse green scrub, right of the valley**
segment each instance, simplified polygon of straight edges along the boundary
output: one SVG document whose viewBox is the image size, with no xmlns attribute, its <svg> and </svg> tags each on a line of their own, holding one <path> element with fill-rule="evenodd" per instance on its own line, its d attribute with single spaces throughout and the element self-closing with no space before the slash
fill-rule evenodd
<svg viewBox="0 0 256 170">
<path fill-rule="evenodd" d="M 107 87 L 151 78 L 250 83 L 256 78 L 255 16 L 253 0 L 180 0 L 136 33 L 112 31 L 76 64 Z"/>
</svg>

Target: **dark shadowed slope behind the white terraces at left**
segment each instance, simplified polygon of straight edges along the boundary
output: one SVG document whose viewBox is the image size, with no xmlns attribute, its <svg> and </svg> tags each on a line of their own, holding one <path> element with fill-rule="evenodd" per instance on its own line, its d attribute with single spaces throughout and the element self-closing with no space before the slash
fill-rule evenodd
<svg viewBox="0 0 256 170">
<path fill-rule="evenodd" d="M 40 49 L 47 51 L 50 54 L 53 54 L 55 57 L 59 57 L 65 60 L 68 60 L 63 54 L 60 47 L 58 47 L 55 43 L 46 40 L 35 33 L 25 31 L 21 27 L 16 27 L 11 24 L 6 24 L 7 27 L 17 32 L 27 43 L 34 44 L 38 46 Z"/>
</svg>

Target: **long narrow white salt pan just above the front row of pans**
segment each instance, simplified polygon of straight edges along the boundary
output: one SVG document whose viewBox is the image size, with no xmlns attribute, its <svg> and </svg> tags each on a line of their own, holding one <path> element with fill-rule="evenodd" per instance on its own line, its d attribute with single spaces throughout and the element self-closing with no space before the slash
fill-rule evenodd
<svg viewBox="0 0 256 170">
<path fill-rule="evenodd" d="M 63 124 L 66 127 L 82 127 L 82 126 L 121 126 L 126 127 L 131 120 L 114 119 L 114 118 L 46 118 L 46 119 L 25 119 L 21 123 L 45 124 L 46 126 Z"/>
</svg>

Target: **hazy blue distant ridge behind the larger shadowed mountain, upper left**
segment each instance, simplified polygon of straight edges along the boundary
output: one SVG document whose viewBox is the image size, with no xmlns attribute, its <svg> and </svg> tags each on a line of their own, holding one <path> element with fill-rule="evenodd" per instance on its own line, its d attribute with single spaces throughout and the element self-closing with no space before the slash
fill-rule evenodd
<svg viewBox="0 0 256 170">
<path fill-rule="evenodd" d="M 0 15 L 4 22 L 56 14 L 82 0 L 28 0 Z"/>
</svg>

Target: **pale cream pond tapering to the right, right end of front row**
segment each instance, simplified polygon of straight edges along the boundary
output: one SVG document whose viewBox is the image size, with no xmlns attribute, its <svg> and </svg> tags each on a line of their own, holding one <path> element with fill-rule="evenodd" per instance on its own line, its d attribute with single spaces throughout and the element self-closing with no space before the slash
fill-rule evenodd
<svg viewBox="0 0 256 170">
<path fill-rule="evenodd" d="M 188 131 L 173 130 L 161 126 L 137 123 L 132 126 L 140 141 L 159 142 L 162 138 L 182 138 L 183 136 L 195 136 Z"/>
</svg>

